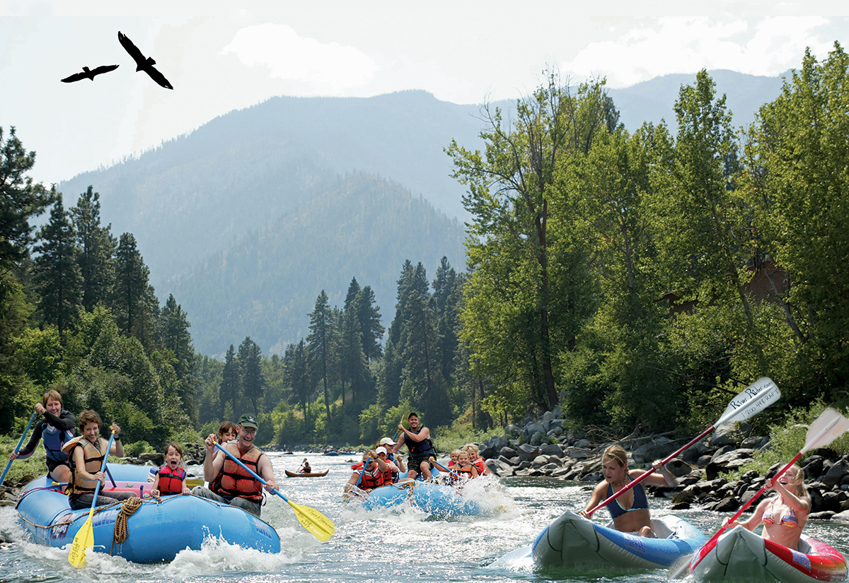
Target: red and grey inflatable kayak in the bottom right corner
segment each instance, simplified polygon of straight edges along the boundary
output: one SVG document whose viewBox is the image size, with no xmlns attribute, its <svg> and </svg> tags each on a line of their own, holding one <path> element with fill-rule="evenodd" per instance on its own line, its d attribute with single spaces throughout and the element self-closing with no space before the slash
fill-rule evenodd
<svg viewBox="0 0 849 583">
<path fill-rule="evenodd" d="M 846 580 L 846 558 L 823 541 L 802 535 L 799 550 L 767 541 L 735 526 L 702 547 L 689 566 L 695 580 L 757 580 L 782 583 Z"/>
</svg>

